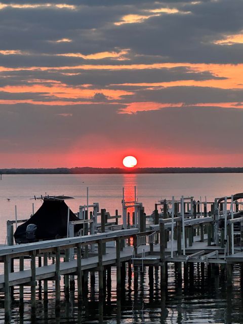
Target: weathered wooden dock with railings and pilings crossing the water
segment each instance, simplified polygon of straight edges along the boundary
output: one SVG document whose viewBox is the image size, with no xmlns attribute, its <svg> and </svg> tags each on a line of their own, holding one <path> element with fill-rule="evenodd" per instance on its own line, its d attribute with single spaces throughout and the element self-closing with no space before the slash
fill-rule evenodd
<svg viewBox="0 0 243 324">
<path fill-rule="evenodd" d="M 205 202 L 203 212 L 201 202 L 198 210 L 198 203 L 191 197 L 189 203 L 185 201 L 184 197 L 179 201 L 174 197 L 171 201 L 163 200 L 155 205 L 152 215 L 144 213 L 141 203 L 137 204 L 134 201 L 134 204 L 131 204 L 130 201 L 130 205 L 123 205 L 123 224 L 118 224 L 118 218 L 121 217 L 118 212 L 115 216 L 110 216 L 104 209 L 98 213 L 96 205 L 96 217 L 100 216 L 100 223 L 92 217 L 87 221 L 88 215 L 85 211 L 83 218 L 78 221 L 83 222 L 84 231 L 81 234 L 85 235 L 72 237 L 75 222 L 70 222 L 71 237 L 1 247 L 0 262 L 4 263 L 4 271 L 0 274 L 0 290 L 1 294 L 5 295 L 6 322 L 11 320 L 12 287 L 19 287 L 22 304 L 23 286 L 31 287 L 31 310 L 34 313 L 36 281 L 44 282 L 44 300 L 48 300 L 48 280 L 55 280 L 58 312 L 61 289 L 64 289 L 65 296 L 68 296 L 69 291 L 75 289 L 75 278 L 78 302 L 82 303 L 84 287 L 88 287 L 89 273 L 92 286 L 94 272 L 98 272 L 99 297 L 103 298 L 106 280 L 111 280 L 111 267 L 116 267 L 118 294 L 126 263 L 132 265 L 134 280 L 137 279 L 138 268 L 143 270 L 146 266 L 159 267 L 161 289 L 167 285 L 169 262 L 175 264 L 175 275 L 181 281 L 193 276 L 194 264 L 200 264 L 203 268 L 207 265 L 214 273 L 226 272 L 227 285 L 230 287 L 234 264 L 241 265 L 243 276 L 243 217 L 239 217 L 239 210 L 234 208 L 235 200 L 232 200 L 231 208 L 227 210 L 229 202 L 225 198 L 224 209 L 221 211 L 217 199 L 214 203 Z M 209 204 L 210 211 L 207 210 Z M 131 206 L 135 207 L 134 215 L 127 213 L 127 208 Z M 162 206 L 161 212 L 158 211 L 158 206 Z M 227 218 L 229 215 L 230 219 Z M 146 221 L 148 218 L 150 221 Z M 220 218 L 225 224 L 221 229 Z M 234 229 L 235 223 L 240 224 L 237 229 Z M 8 242 L 12 243 L 13 224 L 14 221 L 8 222 Z M 53 264 L 48 263 L 49 257 L 52 258 Z M 61 276 L 64 276 L 63 288 Z"/>
</svg>

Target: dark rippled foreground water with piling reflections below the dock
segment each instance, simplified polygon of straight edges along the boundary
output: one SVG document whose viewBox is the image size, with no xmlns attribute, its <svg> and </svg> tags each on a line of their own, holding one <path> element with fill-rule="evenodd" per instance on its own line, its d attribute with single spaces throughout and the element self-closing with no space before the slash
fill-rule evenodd
<svg viewBox="0 0 243 324">
<path fill-rule="evenodd" d="M 15 289 L 12 322 L 18 323 L 242 323 L 243 291 L 239 267 L 235 266 L 233 286 L 226 286 L 225 273 L 220 275 L 206 267 L 204 273 L 194 266 L 194 281 L 177 280 L 175 267 L 169 264 L 168 284 L 160 290 L 160 269 L 127 265 L 123 289 L 116 294 L 115 268 L 106 282 L 106 298 L 99 299 L 98 289 L 91 293 L 89 275 L 88 294 L 82 304 L 77 303 L 77 293 L 70 292 L 65 299 L 61 296 L 61 309 L 55 312 L 55 292 L 50 291 L 49 302 L 37 301 L 36 314 L 31 316 L 29 289 L 24 289 L 24 305 L 19 308 L 18 289 Z M 124 270 L 123 270 L 124 271 Z M 133 275 L 134 273 L 134 275 Z M 109 273 L 108 273 L 109 275 Z M 224 279 L 223 279 L 224 277 Z M 97 282 L 97 274 L 95 275 Z M 76 285 L 76 282 L 75 282 Z M 50 285 L 51 286 L 51 285 Z M 39 292 L 36 293 L 38 296 Z M 43 292 L 42 292 L 43 295 Z M 36 297 L 37 297 L 36 296 Z M 4 319 L 1 304 L 0 321 Z"/>
</svg>

